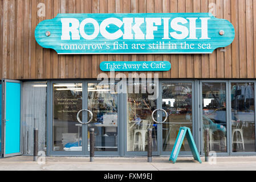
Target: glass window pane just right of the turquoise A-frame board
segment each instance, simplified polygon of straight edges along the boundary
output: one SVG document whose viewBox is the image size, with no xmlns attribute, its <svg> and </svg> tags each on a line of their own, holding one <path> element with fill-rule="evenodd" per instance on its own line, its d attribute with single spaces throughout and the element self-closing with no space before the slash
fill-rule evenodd
<svg viewBox="0 0 256 182">
<path fill-rule="evenodd" d="M 227 152 L 226 83 L 202 83 L 202 124 L 209 129 L 210 151 Z"/>
</svg>

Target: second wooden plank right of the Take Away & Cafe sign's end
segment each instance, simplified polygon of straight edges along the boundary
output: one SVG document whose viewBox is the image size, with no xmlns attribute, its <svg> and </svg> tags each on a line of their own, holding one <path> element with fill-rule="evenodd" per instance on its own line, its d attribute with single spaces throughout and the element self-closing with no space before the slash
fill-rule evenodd
<svg viewBox="0 0 256 182">
<path fill-rule="evenodd" d="M 178 13 L 183 13 L 186 11 L 186 1 L 178 1 Z M 178 55 L 178 77 L 186 77 L 186 55 Z"/>
</svg>

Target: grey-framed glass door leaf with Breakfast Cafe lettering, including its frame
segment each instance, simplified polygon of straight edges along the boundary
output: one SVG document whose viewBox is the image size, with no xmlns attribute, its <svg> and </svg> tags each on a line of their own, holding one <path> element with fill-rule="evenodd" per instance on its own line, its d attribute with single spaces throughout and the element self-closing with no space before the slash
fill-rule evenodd
<svg viewBox="0 0 256 182">
<path fill-rule="evenodd" d="M 147 155 L 149 128 L 152 129 L 152 155 L 160 155 L 159 125 L 152 119 L 152 113 L 157 109 L 157 87 L 159 84 L 139 81 L 127 84 L 125 155 Z M 156 120 L 159 119 L 160 117 Z"/>
</svg>

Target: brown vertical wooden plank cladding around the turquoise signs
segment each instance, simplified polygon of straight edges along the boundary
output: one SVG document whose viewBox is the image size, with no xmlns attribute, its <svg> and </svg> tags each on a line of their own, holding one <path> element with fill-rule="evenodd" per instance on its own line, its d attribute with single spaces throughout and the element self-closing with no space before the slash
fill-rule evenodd
<svg viewBox="0 0 256 182">
<path fill-rule="evenodd" d="M 235 28 L 234 42 L 212 54 L 58 55 L 40 47 L 34 37 L 36 25 L 58 13 L 209 12 L 229 20 Z M 170 61 L 172 68 L 157 72 L 160 78 L 256 78 L 255 15 L 256 0 L 2 0 L 0 77 L 96 78 L 102 73 L 101 61 L 163 60 Z"/>
</svg>

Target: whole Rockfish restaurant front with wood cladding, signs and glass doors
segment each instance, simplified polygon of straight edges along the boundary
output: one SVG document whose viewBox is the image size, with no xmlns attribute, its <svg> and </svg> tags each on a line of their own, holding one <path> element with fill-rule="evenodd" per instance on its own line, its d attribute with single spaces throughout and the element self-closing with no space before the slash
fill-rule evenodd
<svg viewBox="0 0 256 182">
<path fill-rule="evenodd" d="M 34 128 L 47 156 L 89 156 L 90 128 L 95 156 L 146 156 L 149 128 L 168 156 L 182 126 L 256 154 L 254 0 L 3 0 L 0 22 L 2 157 Z"/>
</svg>

